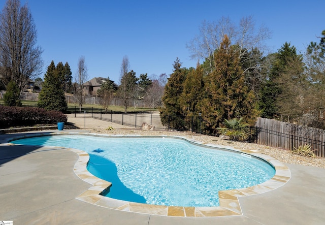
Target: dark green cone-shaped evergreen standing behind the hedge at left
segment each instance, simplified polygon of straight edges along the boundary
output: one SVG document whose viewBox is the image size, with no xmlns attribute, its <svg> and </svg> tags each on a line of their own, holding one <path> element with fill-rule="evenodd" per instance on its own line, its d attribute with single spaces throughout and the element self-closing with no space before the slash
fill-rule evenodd
<svg viewBox="0 0 325 225">
<path fill-rule="evenodd" d="M 67 102 L 62 89 L 61 69 L 56 70 L 54 61 L 47 68 L 43 89 L 39 94 L 38 106 L 46 110 L 64 111 L 67 109 Z"/>
</svg>

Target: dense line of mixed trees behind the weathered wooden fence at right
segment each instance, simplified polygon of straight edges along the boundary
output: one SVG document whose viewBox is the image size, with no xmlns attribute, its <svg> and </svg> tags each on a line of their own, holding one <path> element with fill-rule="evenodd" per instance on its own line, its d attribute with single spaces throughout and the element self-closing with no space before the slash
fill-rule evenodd
<svg viewBox="0 0 325 225">
<path fill-rule="evenodd" d="M 304 54 L 285 42 L 265 55 L 259 46 L 268 31 L 254 33 L 252 24 L 242 19 L 236 30 L 225 18 L 204 23 L 202 36 L 188 46 L 204 61 L 187 69 L 176 59 L 161 115 L 200 116 L 208 133 L 232 119 L 254 125 L 258 116 L 324 128 L 325 30 Z"/>
</svg>

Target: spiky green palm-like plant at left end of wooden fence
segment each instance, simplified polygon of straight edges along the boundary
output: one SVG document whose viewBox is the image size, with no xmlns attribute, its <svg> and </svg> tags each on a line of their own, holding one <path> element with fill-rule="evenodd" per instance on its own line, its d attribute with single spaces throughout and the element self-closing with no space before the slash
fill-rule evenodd
<svg viewBox="0 0 325 225">
<path fill-rule="evenodd" d="M 218 127 L 218 133 L 220 135 L 229 136 L 234 141 L 245 141 L 249 138 L 249 125 L 244 123 L 243 118 L 237 119 L 224 119 L 225 127 Z"/>
</svg>

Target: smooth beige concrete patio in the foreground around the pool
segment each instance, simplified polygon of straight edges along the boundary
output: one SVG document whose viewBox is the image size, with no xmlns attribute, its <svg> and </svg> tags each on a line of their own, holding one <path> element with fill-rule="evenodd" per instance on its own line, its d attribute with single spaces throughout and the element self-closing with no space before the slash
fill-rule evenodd
<svg viewBox="0 0 325 225">
<path fill-rule="evenodd" d="M 12 220 L 15 225 L 325 223 L 325 169 L 286 164 L 291 179 L 275 190 L 239 198 L 240 216 L 158 216 L 76 199 L 91 186 L 74 172 L 78 154 L 65 148 L 5 144 L 15 136 L 0 135 L 0 220 Z"/>
</svg>

